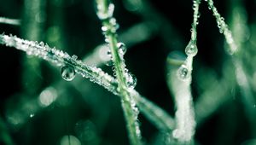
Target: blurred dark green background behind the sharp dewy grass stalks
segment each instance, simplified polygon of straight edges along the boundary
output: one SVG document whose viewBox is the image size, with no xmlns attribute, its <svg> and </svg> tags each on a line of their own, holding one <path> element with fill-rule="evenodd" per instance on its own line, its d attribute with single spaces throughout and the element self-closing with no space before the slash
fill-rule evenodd
<svg viewBox="0 0 256 145">
<path fill-rule="evenodd" d="M 111 67 L 92 57 L 94 49 L 104 44 L 93 0 L 0 3 L 0 17 L 20 20 L 20 26 L 0 23 L 1 33 L 44 41 L 112 74 Z M 192 1 L 113 3 L 119 39 L 128 47 L 125 62 L 137 77 L 136 90 L 173 116 L 175 104 L 166 85 L 169 65 L 173 64 L 166 60 L 184 57 Z M 255 145 L 256 1 L 216 0 L 214 4 L 230 25 L 240 51 L 233 57 L 227 55 L 224 36 L 202 1 L 192 83 L 198 121 L 195 143 Z M 239 79 L 234 60 L 241 62 L 247 81 L 244 76 Z M 129 144 L 119 97 L 80 76 L 67 82 L 59 67 L 14 48 L 1 45 L 0 62 L 0 144 Z M 51 100 L 45 100 L 47 96 Z M 148 119 L 140 114 L 139 121 L 144 142 L 164 144 L 162 132 Z"/>
</svg>

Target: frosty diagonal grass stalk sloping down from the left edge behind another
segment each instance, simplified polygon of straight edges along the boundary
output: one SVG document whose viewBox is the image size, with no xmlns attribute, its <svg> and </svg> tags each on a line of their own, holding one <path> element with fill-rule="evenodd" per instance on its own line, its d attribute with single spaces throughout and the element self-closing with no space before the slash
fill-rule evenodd
<svg viewBox="0 0 256 145">
<path fill-rule="evenodd" d="M 38 44 L 3 34 L 0 34 L 0 44 L 23 50 L 28 55 L 34 55 L 38 58 L 50 61 L 59 67 L 66 65 L 71 66 L 76 73 L 79 73 L 84 78 L 89 78 L 91 82 L 101 85 L 116 96 L 121 96 L 116 79 L 108 75 L 108 73 L 104 73 L 101 68 L 85 65 L 83 61 L 75 59 L 74 56 L 72 57 L 66 52 L 59 49 L 51 49 L 44 43 Z M 168 131 L 173 129 L 174 120 L 168 113 L 156 106 L 153 102 L 148 101 L 144 96 L 141 96 L 136 90 L 131 90 L 131 96 L 134 97 L 142 113 L 156 125 L 158 129 Z"/>
</svg>

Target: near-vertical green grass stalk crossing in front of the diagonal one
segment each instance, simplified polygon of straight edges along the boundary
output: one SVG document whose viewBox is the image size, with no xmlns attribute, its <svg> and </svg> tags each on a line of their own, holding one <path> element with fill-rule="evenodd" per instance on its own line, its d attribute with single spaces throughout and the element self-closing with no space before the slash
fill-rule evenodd
<svg viewBox="0 0 256 145">
<path fill-rule="evenodd" d="M 113 3 L 107 0 L 97 0 L 97 15 L 102 20 L 102 32 L 105 36 L 106 43 L 109 44 L 109 49 L 112 56 L 114 72 L 118 81 L 118 89 L 121 96 L 122 107 L 125 113 L 125 120 L 127 123 L 127 130 L 130 138 L 130 142 L 133 145 L 142 144 L 141 131 L 137 121 L 137 115 L 139 113 L 134 98 L 130 95 L 129 91 L 133 90 L 133 87 L 128 85 L 129 74 L 127 69 L 125 70 L 124 54 L 121 54 L 118 46 L 117 28 L 115 18 L 113 18 Z M 130 76 L 131 77 L 131 76 Z M 133 78 L 131 78 L 133 79 Z"/>
</svg>

